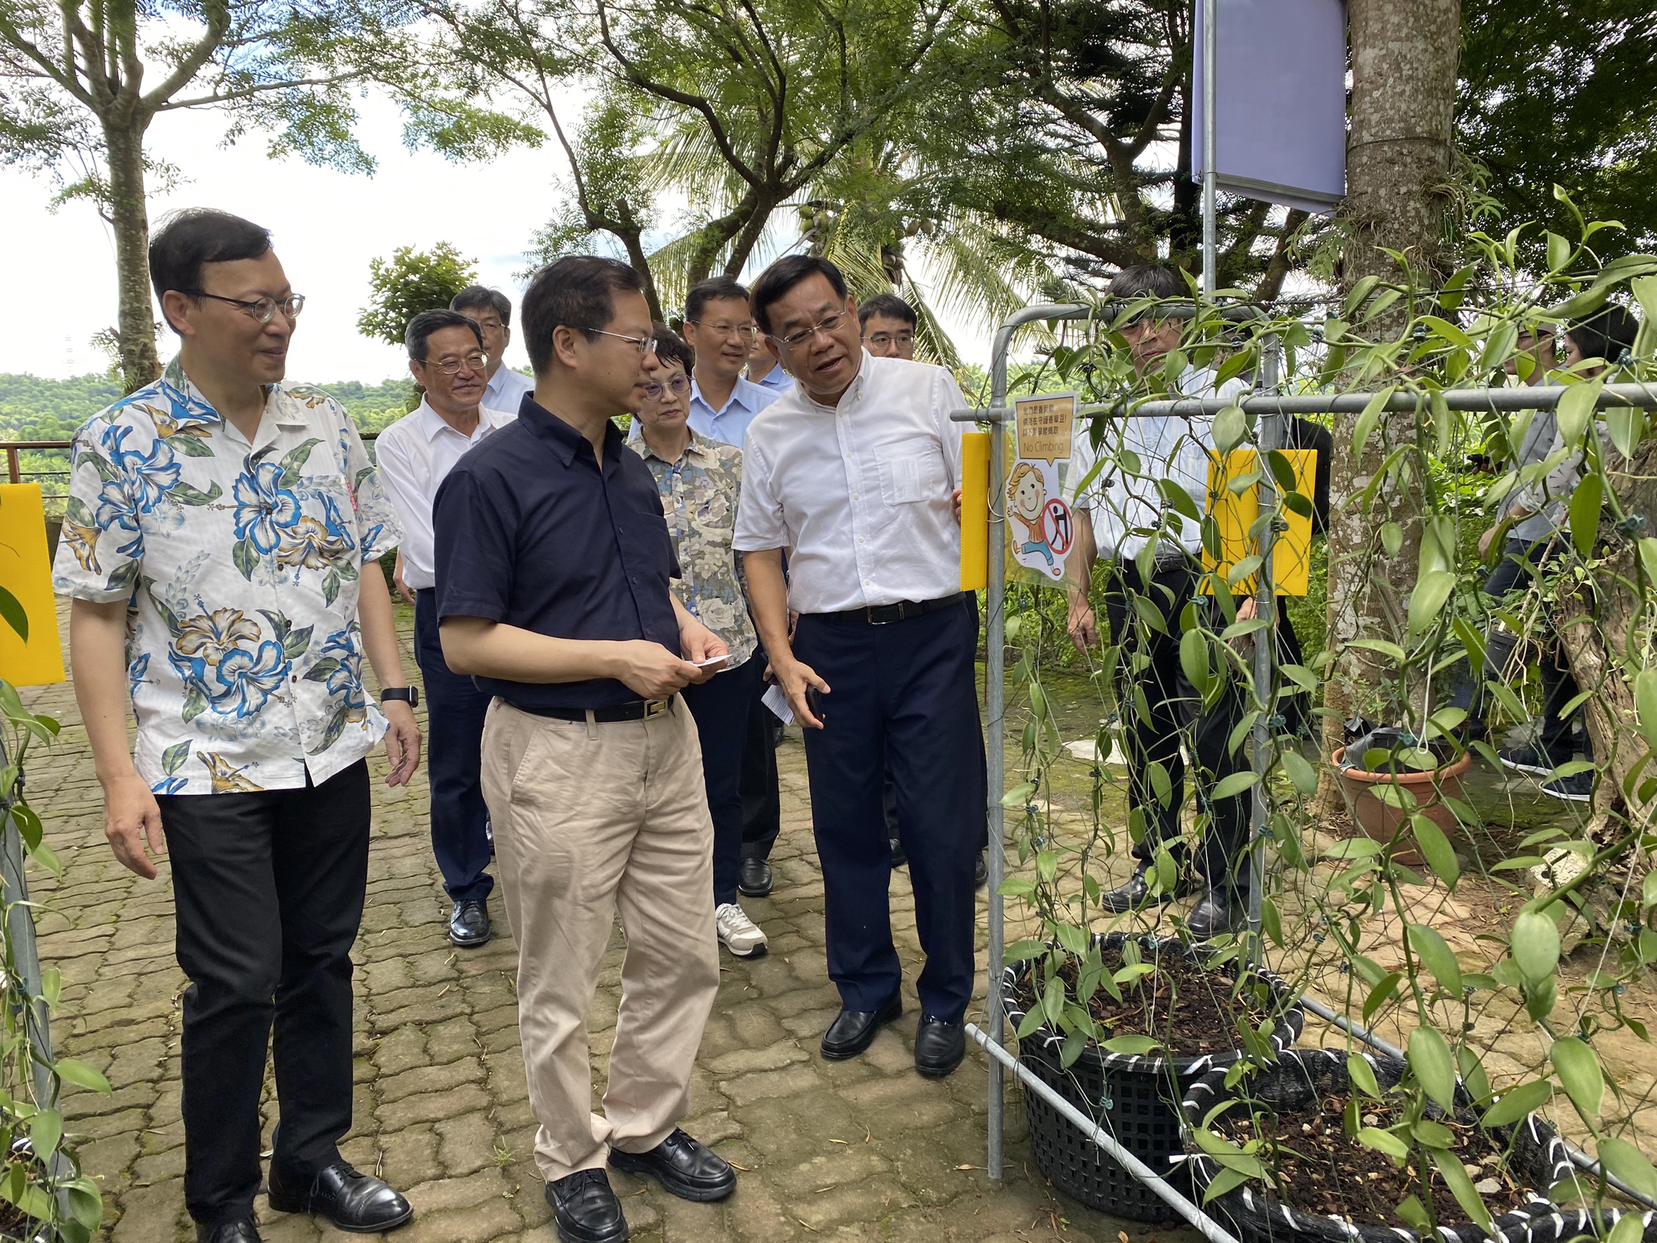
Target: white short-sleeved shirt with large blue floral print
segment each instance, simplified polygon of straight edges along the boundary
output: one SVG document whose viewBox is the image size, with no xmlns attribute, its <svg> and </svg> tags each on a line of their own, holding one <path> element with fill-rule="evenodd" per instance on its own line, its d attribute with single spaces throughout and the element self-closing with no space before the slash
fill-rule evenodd
<svg viewBox="0 0 1657 1243">
<path fill-rule="evenodd" d="M 133 762 L 152 791 L 320 786 L 373 749 L 358 572 L 399 539 L 316 388 L 273 385 L 249 444 L 174 360 L 76 433 L 53 587 L 128 602 Z"/>
</svg>

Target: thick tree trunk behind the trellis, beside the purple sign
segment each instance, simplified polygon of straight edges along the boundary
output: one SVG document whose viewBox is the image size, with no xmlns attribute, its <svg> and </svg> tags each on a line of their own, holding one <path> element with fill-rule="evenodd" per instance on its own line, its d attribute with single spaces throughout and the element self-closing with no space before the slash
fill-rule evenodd
<svg viewBox="0 0 1657 1243">
<path fill-rule="evenodd" d="M 1347 199 L 1342 215 L 1350 242 L 1342 260 L 1342 287 L 1367 275 L 1402 283 L 1403 272 L 1380 247 L 1408 255 L 1427 282 L 1445 264 L 1442 186 L 1452 169 L 1450 123 L 1461 45 L 1460 0 L 1350 0 L 1352 128 L 1347 138 Z M 1375 333 L 1395 333 L 1407 322 L 1400 300 Z M 1390 449 L 1415 439 L 1415 414 L 1384 414 L 1360 452 L 1352 452 L 1357 416 L 1336 419 L 1329 522 L 1329 651 L 1334 665 L 1324 686 L 1326 754 L 1342 746 L 1341 723 L 1384 703 L 1384 660 L 1354 638 L 1405 643 L 1405 607 L 1415 582 L 1422 539 L 1420 481 L 1390 479 L 1365 507 L 1362 492 Z M 1385 522 L 1397 522 L 1403 544 L 1387 557 L 1379 542 Z M 1412 696 L 1413 698 L 1413 696 Z M 1382 724 L 1403 724 L 1384 721 Z M 1324 772 L 1319 810 L 1342 805 L 1332 774 Z"/>
</svg>

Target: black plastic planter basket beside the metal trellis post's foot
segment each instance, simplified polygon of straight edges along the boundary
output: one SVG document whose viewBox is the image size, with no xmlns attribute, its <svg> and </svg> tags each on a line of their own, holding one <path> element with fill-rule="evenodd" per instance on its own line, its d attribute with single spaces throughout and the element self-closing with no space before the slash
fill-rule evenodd
<svg viewBox="0 0 1657 1243">
<path fill-rule="evenodd" d="M 1127 940 L 1122 933 L 1095 938 L 1107 953 Z M 1176 940 L 1135 938 L 1152 955 L 1185 955 L 1201 961 L 1201 951 Z M 1261 971 L 1273 994 L 1284 1004 L 1271 1036 L 1274 1051 L 1281 1052 L 1299 1039 L 1306 1021 L 1304 1011 L 1287 1004 L 1289 986 L 1269 971 Z M 1024 1021 L 1022 996 L 1029 991 L 1029 965 L 1014 963 L 1001 978 L 1007 998 L 1007 1019 L 1017 1028 Z M 1019 1062 L 1037 1079 L 1052 1087 L 1069 1104 L 1110 1134 L 1123 1149 L 1138 1157 L 1153 1172 L 1183 1182 L 1178 1158 L 1185 1152 L 1180 1099 L 1185 1089 L 1210 1071 L 1236 1062 L 1243 1051 L 1203 1054 L 1200 1057 L 1130 1057 L 1105 1052 L 1097 1046 L 1082 1051 L 1069 1069 L 1060 1069 L 1059 1051 L 1064 1039 L 1047 1028 L 1037 1028 L 1019 1041 Z M 1132 1221 L 1171 1221 L 1173 1210 L 1145 1183 L 1128 1173 L 1105 1150 L 1084 1135 L 1034 1092 L 1024 1094 L 1024 1112 L 1029 1119 L 1031 1150 L 1036 1165 L 1052 1180 L 1052 1185 L 1080 1200 L 1089 1208 L 1099 1208 Z"/>
</svg>

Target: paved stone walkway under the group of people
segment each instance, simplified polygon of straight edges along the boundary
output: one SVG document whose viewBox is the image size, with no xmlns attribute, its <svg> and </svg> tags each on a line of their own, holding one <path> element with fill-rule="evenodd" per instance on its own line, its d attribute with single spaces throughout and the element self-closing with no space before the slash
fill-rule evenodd
<svg viewBox="0 0 1657 1243">
<path fill-rule="evenodd" d="M 409 628 L 403 610 L 404 631 Z M 404 633 L 408 648 L 408 633 Z M 413 671 L 413 653 L 404 651 Z M 61 883 L 36 877 L 41 960 L 63 973 L 60 1051 L 98 1066 L 113 1095 L 66 1100 L 81 1158 L 104 1188 L 116 1243 L 194 1238 L 184 1215 L 179 1122 L 179 993 L 167 870 L 156 882 L 121 868 L 103 840 L 86 734 L 68 686 L 25 691 L 56 716 L 55 749 L 28 764 L 28 796 L 63 855 Z M 424 716 L 424 713 L 423 713 Z M 691 1205 L 655 1183 L 613 1173 L 635 1238 L 650 1243 L 737 1240 L 1118 1240 L 1180 1231 L 1133 1226 L 1080 1208 L 1029 1162 L 1021 1099 L 1009 1092 L 1007 1177 L 984 1165 L 984 1057 L 973 1049 L 944 1082 L 913 1069 L 913 975 L 920 966 L 906 873 L 893 885 L 893 923 L 910 963 L 905 1021 L 867 1056 L 824 1062 L 817 1042 L 837 1009 L 824 965 L 822 875 L 810 837 L 804 751 L 782 764 L 784 830 L 777 888 L 747 902 L 771 935 L 771 956 L 722 956 L 722 979 L 691 1086 L 686 1129 L 737 1165 L 736 1195 Z M 368 910 L 356 946 L 356 1125 L 345 1155 L 403 1188 L 414 1221 L 396 1243 L 552 1240 L 532 1158 L 534 1122 L 519 1051 L 515 953 L 499 900 L 499 935 L 461 953 L 444 935 L 447 903 L 428 840 L 424 774 L 389 791 L 374 764 Z M 983 913 L 983 895 L 979 895 Z M 981 918 L 983 923 L 983 918 Z M 979 943 L 983 965 L 983 943 Z M 611 943 L 593 1009 L 593 1074 L 601 1084 L 620 994 L 621 946 Z M 979 1014 L 974 1013 L 974 1018 Z M 267 1104 L 268 1127 L 275 1100 Z M 338 1238 L 310 1218 L 272 1213 L 267 1240 Z M 1118 1235 L 1118 1231 L 1128 1231 Z M 1195 1238 L 1195 1236 L 1193 1236 Z"/>
</svg>

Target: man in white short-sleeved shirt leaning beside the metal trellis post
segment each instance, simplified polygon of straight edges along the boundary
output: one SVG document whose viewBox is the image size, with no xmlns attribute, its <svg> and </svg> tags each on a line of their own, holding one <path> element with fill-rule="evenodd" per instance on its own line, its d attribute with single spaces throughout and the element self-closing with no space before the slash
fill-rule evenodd
<svg viewBox="0 0 1657 1243">
<path fill-rule="evenodd" d="M 752 305 L 795 389 L 749 424 L 734 545 L 772 671 L 805 726 L 842 1003 L 822 1051 L 855 1057 L 903 1009 L 882 810 L 890 752 L 926 951 L 915 1064 L 944 1076 L 964 1049 L 984 810 L 978 633 L 961 592 L 961 426 L 949 419 L 964 401 L 940 366 L 863 351 L 857 305 L 824 259 L 777 260 Z"/>
</svg>

